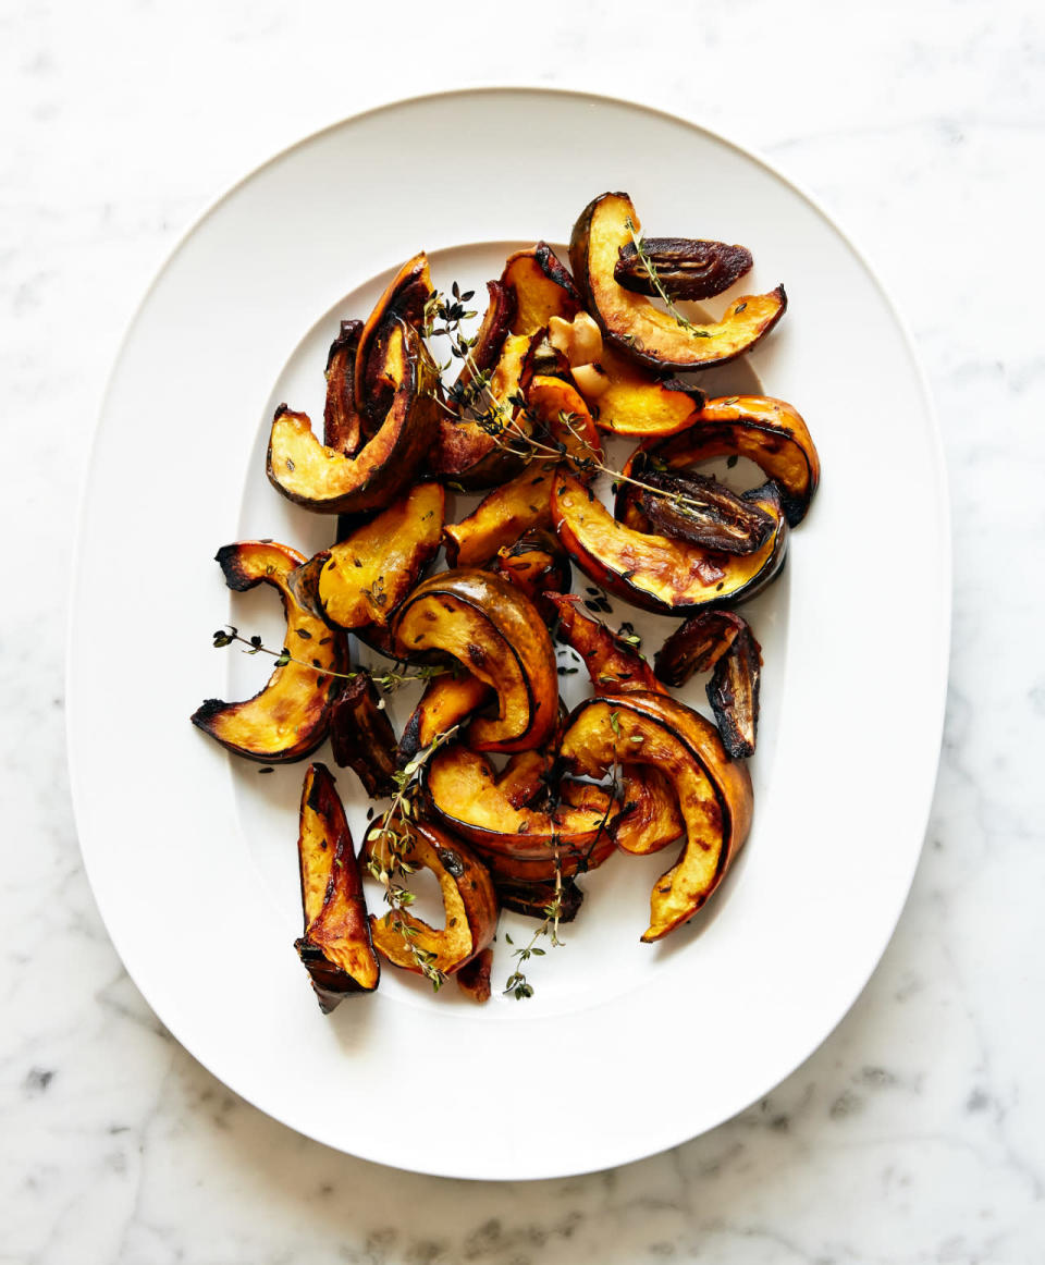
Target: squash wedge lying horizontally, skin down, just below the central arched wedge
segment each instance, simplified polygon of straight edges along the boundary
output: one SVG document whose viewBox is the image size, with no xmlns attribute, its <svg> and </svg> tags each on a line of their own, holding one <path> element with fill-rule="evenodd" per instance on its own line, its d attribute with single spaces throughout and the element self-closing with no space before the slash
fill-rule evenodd
<svg viewBox="0 0 1045 1265">
<path fill-rule="evenodd" d="M 550 812 L 528 807 L 534 794 L 531 755 L 516 755 L 497 774 L 485 755 L 454 745 L 436 751 L 425 767 L 423 784 L 431 811 L 479 851 L 497 880 L 553 879 L 557 850 L 563 877 L 571 877 L 615 849 L 620 805 L 601 787 L 584 787 L 574 803 L 564 801 Z M 528 767 L 520 782 L 515 765 L 522 760 Z"/>
</svg>

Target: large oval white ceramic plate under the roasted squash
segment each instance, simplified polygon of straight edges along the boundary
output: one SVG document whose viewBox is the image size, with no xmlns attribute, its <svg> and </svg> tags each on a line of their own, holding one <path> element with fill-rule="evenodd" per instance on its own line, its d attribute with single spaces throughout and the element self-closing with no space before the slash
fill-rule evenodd
<svg viewBox="0 0 1045 1265">
<path fill-rule="evenodd" d="M 459 137 L 498 172 L 492 187 L 452 161 Z M 540 138 L 529 166 L 520 137 Z M 744 242 L 757 261 L 744 287 L 783 281 L 791 299 L 750 367 L 724 379 L 754 369 L 806 416 L 824 462 L 784 577 L 746 608 L 765 653 L 751 837 L 707 913 L 660 946 L 639 935 L 671 858 L 614 858 L 584 880 L 566 947 L 534 964 L 530 1001 L 476 1008 L 386 969 L 378 996 L 324 1018 L 292 949 L 304 767 L 259 777 L 189 724 L 201 698 L 245 697 L 268 670 L 214 650 L 211 630 L 229 620 L 276 644 L 281 631 L 271 592 L 230 598 L 210 559 L 244 535 L 329 543 L 329 522 L 268 486 L 262 454 L 278 400 L 321 414 L 338 316 L 363 315 L 423 247 L 440 285 L 482 295 L 512 244 L 567 238 L 606 188 L 626 188 L 653 234 Z M 425 97 L 280 154 L 177 247 L 113 374 L 72 611 L 81 846 L 116 949 L 178 1040 L 263 1111 L 356 1155 L 452 1176 L 579 1173 L 681 1142 L 768 1092 L 878 961 L 940 740 L 943 462 L 879 283 L 764 163 L 620 101 Z M 658 636 L 673 626 L 641 621 Z M 687 697 L 702 696 L 696 684 Z M 339 787 L 358 839 L 366 799 L 348 772 Z M 498 980 L 507 953 L 501 939 Z M 409 1123 L 390 1125 L 390 1097 L 409 1098 Z"/>
</svg>

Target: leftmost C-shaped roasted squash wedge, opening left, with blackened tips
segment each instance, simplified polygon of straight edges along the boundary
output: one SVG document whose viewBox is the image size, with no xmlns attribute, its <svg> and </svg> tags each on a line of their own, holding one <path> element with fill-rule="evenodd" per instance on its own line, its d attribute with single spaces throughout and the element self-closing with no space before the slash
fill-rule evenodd
<svg viewBox="0 0 1045 1265">
<path fill-rule="evenodd" d="M 192 724 L 248 760 L 288 764 L 304 759 L 326 737 L 330 708 L 343 686 L 331 673 L 348 669 L 344 639 L 297 603 L 288 577 L 306 559 L 296 549 L 271 540 L 242 540 L 219 549 L 215 560 L 229 588 L 245 592 L 271 584 L 280 593 L 287 617 L 283 644 L 305 663 L 276 668 L 266 687 L 244 702 L 207 698 L 192 713 Z"/>
</svg>

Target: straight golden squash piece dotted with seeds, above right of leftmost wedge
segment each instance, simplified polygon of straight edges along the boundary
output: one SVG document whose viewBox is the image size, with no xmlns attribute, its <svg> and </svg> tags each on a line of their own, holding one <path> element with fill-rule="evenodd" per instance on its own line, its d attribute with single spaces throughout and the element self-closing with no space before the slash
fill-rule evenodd
<svg viewBox="0 0 1045 1265">
<path fill-rule="evenodd" d="M 357 629 L 388 622 L 439 552 L 445 502 L 439 483 L 417 483 L 326 552 L 316 593 L 329 624 Z"/>
</svg>

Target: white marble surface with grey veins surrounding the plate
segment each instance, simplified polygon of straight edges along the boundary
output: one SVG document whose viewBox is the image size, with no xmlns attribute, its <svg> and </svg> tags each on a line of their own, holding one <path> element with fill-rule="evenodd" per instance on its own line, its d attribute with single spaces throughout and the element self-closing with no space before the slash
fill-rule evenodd
<svg viewBox="0 0 1045 1265">
<path fill-rule="evenodd" d="M 0 1261 L 1045 1260 L 1040 5 L 493 8 L 0 4 L 0 521 L 18 577 L 0 643 Z M 955 538 L 935 808 L 867 992 L 739 1118 L 640 1164 L 534 1185 L 334 1154 L 195 1064 L 99 921 L 62 717 L 80 469 L 121 330 L 177 233 L 318 125 L 500 80 L 688 113 L 840 216 L 921 347 Z M 520 147 L 539 178 L 539 138 Z M 114 635 L 114 657 L 119 635 L 151 635 L 147 616 Z M 882 646 L 886 663 L 903 653 L 887 603 Z M 898 698 L 901 730 L 902 717 Z M 874 810 L 887 830 L 887 781 Z"/>
</svg>

